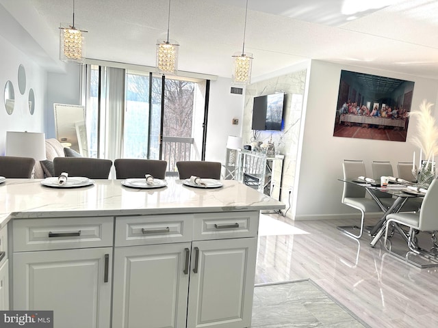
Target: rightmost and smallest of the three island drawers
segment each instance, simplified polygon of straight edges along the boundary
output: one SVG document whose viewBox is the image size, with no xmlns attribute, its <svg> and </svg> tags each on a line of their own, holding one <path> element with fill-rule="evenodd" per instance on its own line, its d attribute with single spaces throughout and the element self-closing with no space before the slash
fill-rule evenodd
<svg viewBox="0 0 438 328">
<path fill-rule="evenodd" d="M 194 214 L 193 240 L 255 237 L 259 212 L 224 212 Z"/>
</svg>

